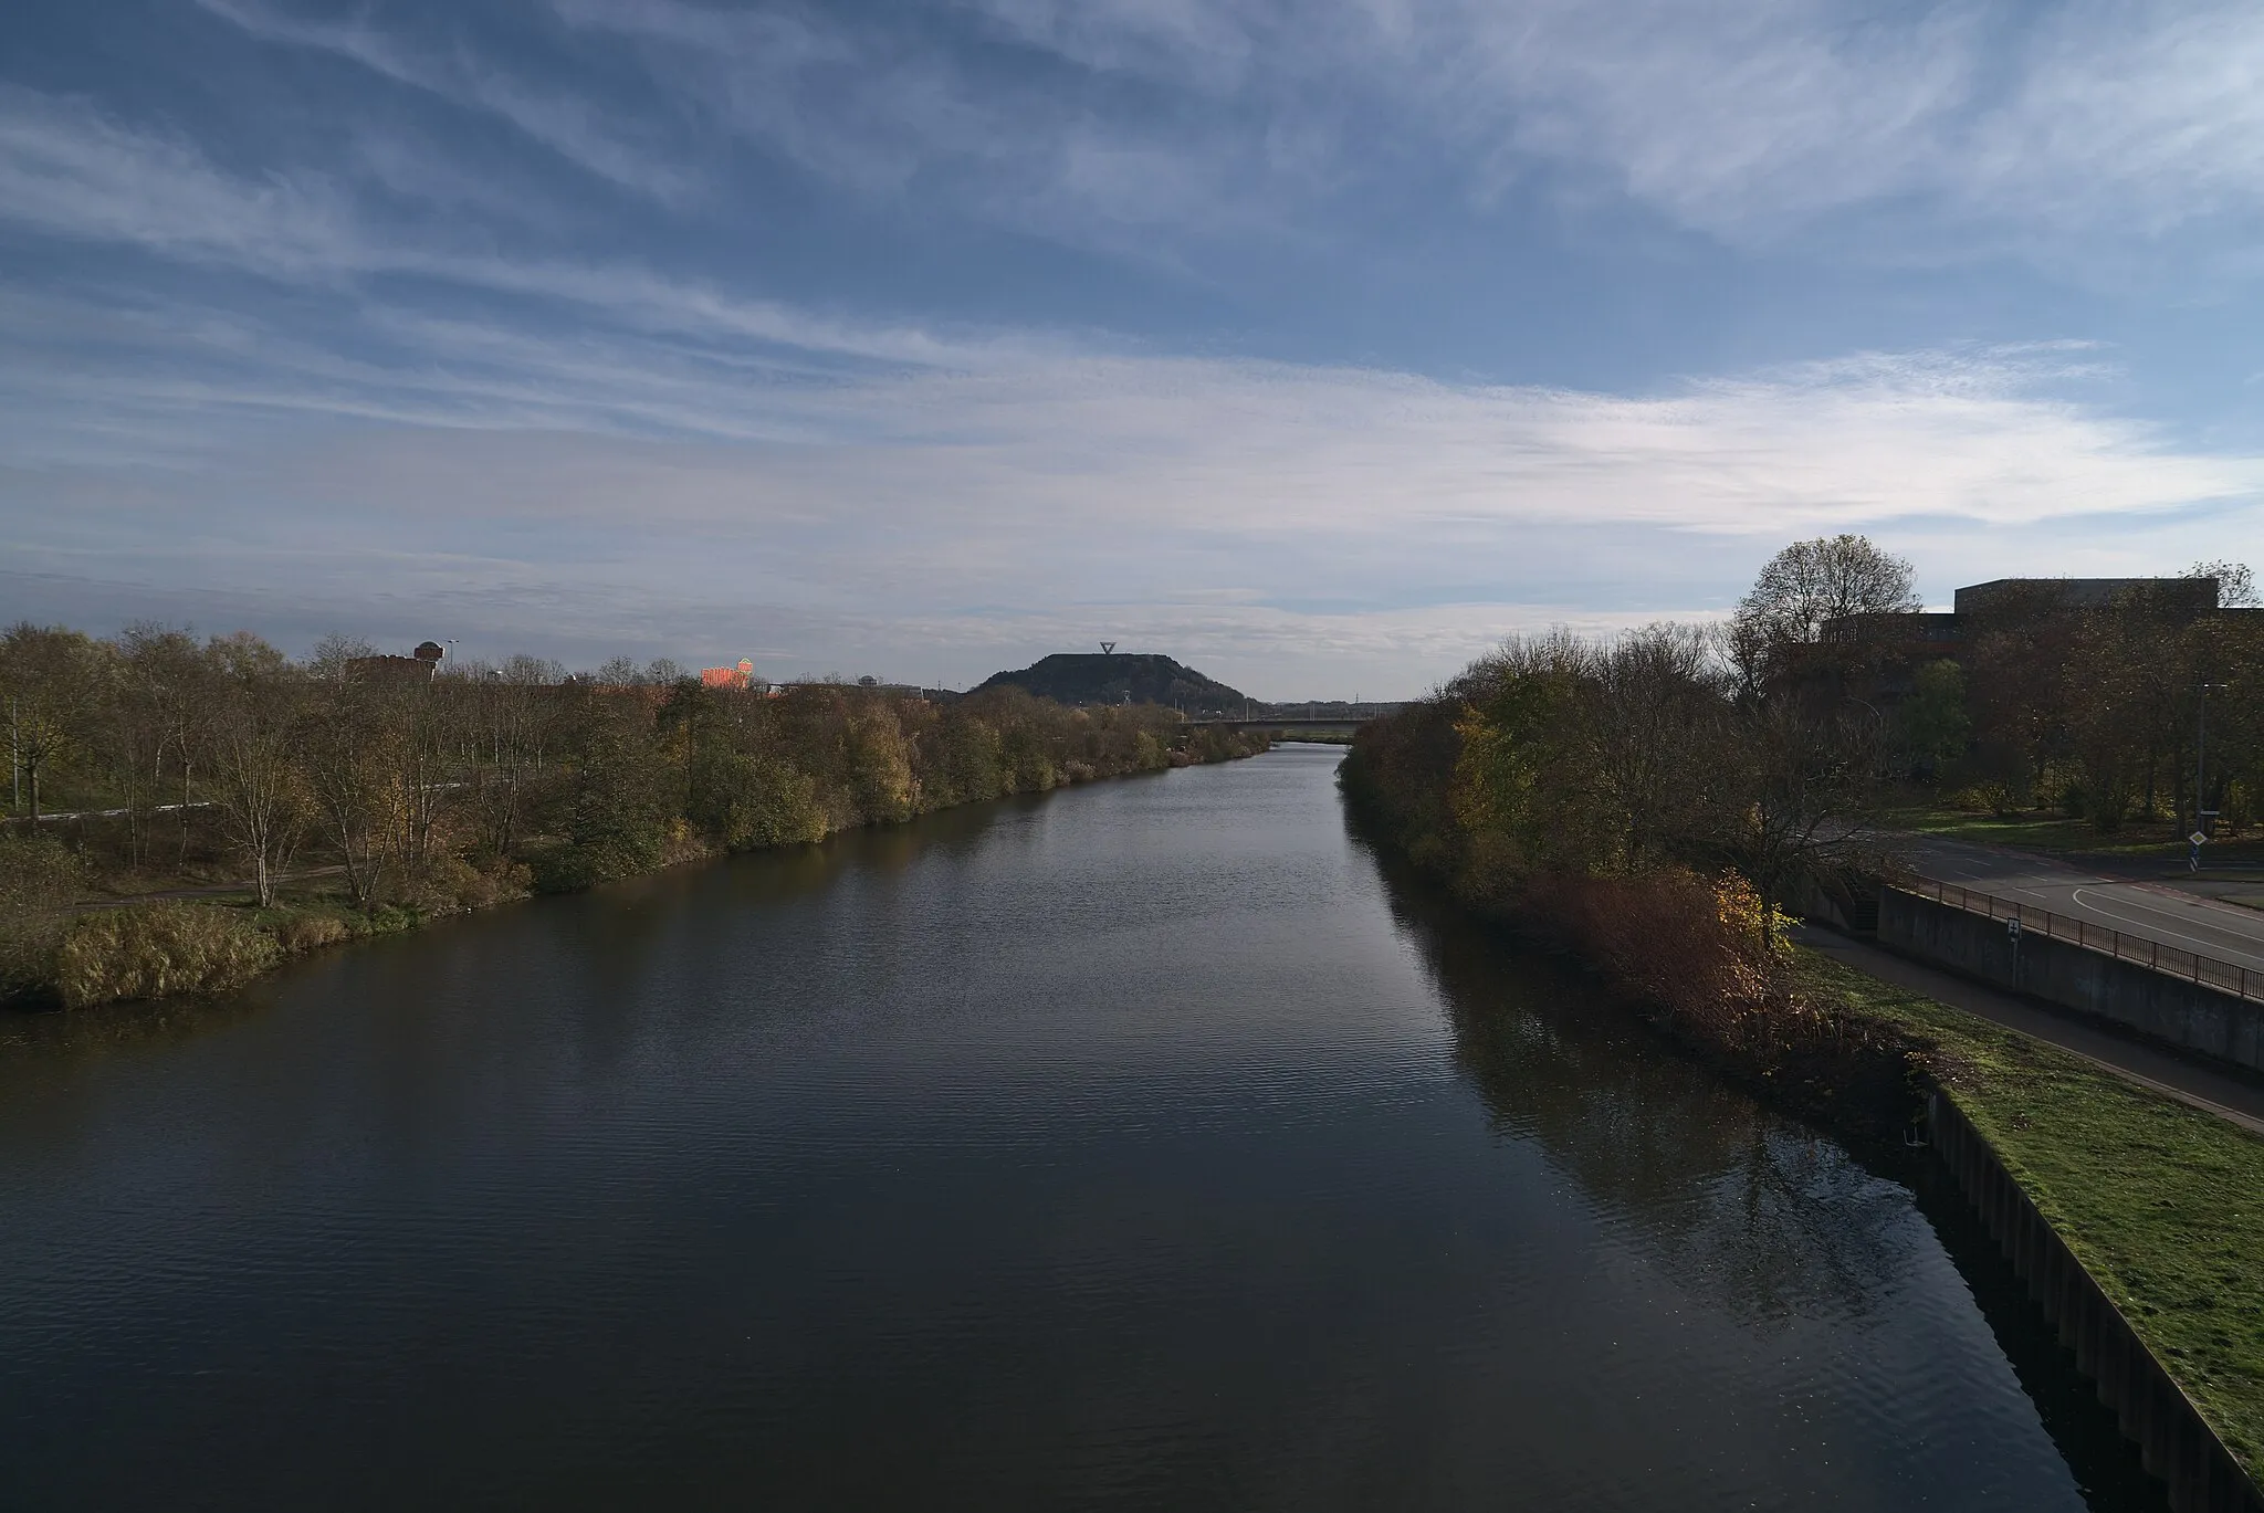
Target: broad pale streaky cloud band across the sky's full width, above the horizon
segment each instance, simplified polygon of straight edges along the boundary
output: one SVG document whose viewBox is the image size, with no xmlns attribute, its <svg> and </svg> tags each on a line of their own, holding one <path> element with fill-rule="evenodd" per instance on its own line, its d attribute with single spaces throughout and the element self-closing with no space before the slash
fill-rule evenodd
<svg viewBox="0 0 2264 1513">
<path fill-rule="evenodd" d="M 1397 614 L 1469 602 L 1474 573 L 1503 602 L 1560 605 L 1549 584 L 1605 559 L 1605 537 L 1657 550 L 1655 532 L 2112 528 L 2248 512 L 2264 489 L 2257 458 L 2182 448 L 2085 401 L 2099 353 L 2069 347 L 1870 353 L 1605 394 L 1064 333 L 937 335 L 641 267 L 435 247 L 367 224 L 319 179 L 233 177 L 23 91 L 0 93 L 9 188 L 25 193 L 0 193 L 0 220 L 355 288 L 319 331 L 179 299 L 0 304 L 27 358 L 45 356 L 7 367 L 18 462 L 82 482 L 183 469 L 156 494 L 213 530 L 229 519 L 215 496 L 297 501 L 297 528 L 331 541 L 310 550 L 346 550 L 337 521 L 444 535 L 541 521 L 602 541 L 620 582 L 654 591 L 761 541 L 747 571 L 831 612 L 976 614 L 1014 582 L 1046 584 L 1014 593 L 1055 605 L 1234 589 L 1263 600 L 1252 612 Z M 435 308 L 421 283 L 491 299 Z M 86 498 L 113 498 L 134 535 L 149 505 L 120 501 L 152 487 Z M 634 539 L 706 541 L 706 566 L 629 550 L 625 501 Z M 1139 553 L 1121 548 L 1130 521 Z M 1648 589 L 1576 575 L 1594 612 L 1687 600 L 1671 564 Z"/>
</svg>

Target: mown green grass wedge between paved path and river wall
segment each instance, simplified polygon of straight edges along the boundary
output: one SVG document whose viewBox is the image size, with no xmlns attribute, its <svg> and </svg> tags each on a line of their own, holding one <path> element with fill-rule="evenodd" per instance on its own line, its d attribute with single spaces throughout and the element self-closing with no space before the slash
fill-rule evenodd
<svg viewBox="0 0 2264 1513">
<path fill-rule="evenodd" d="M 1938 1078 L 2250 1477 L 2264 1477 L 2264 1139 L 2078 1055 L 1802 951 L 1811 992 Z"/>
</svg>

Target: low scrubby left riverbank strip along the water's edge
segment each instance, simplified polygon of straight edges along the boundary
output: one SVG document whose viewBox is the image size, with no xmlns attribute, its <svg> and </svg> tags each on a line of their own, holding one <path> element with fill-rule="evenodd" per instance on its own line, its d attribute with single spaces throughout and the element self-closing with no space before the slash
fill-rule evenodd
<svg viewBox="0 0 2264 1513">
<path fill-rule="evenodd" d="M 1071 713 L 1071 711 L 1062 711 Z M 1137 759 L 1123 766 L 1096 761 L 1050 761 L 1030 790 L 1132 777 L 1175 766 L 1236 761 L 1266 750 L 1263 736 L 1200 732 L 1161 747 L 1148 741 Z M 1007 786 L 1005 793 L 1014 788 Z M 946 790 L 949 793 L 949 790 Z M 263 906 L 245 901 L 158 899 L 120 904 L 84 915 L 45 908 L 38 915 L 16 911 L 14 929 L 0 931 L 0 1006 L 18 1010 L 97 1008 L 181 994 L 224 994 L 281 967 L 285 960 L 351 940 L 394 935 L 421 929 L 435 920 L 518 901 L 534 892 L 580 892 L 600 881 L 625 881 L 668 867 L 711 861 L 731 852 L 774 849 L 781 845 L 815 845 L 829 836 L 874 824 L 892 824 L 964 804 L 1003 797 L 967 793 L 953 802 L 915 804 L 874 813 L 856 806 L 815 809 L 801 834 L 772 836 L 700 836 L 686 824 L 670 827 L 657 845 L 609 858 L 604 870 L 575 865 L 568 845 L 530 847 L 528 858 L 489 858 L 473 865 L 448 858 L 439 888 L 426 886 L 403 901 L 355 901 L 335 883 L 299 892 L 274 890 Z M 9 845 L 0 840 L 0 845 Z M 20 847 L 23 843 L 11 843 Z M 564 861 L 561 861 L 564 856 Z M 61 877 L 52 858 L 34 858 L 25 870 L 45 865 Z M 251 892 L 249 883 L 245 888 Z"/>
</svg>

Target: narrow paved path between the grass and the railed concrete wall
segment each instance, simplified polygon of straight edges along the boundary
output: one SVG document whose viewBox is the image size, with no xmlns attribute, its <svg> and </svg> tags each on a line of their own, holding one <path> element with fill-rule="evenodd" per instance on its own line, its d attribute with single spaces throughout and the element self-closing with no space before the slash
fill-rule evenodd
<svg viewBox="0 0 2264 1513">
<path fill-rule="evenodd" d="M 2139 1087 L 2151 1087 L 2180 1103 L 2192 1103 L 2221 1119 L 2230 1119 L 2250 1135 L 2264 1135 L 2264 1078 L 2253 1080 L 2237 1071 L 2216 1071 L 2171 1051 L 2096 1028 L 2065 1010 L 2051 1010 L 2031 999 L 1970 983 L 1940 967 L 1927 967 L 1895 956 L 1886 947 L 1850 940 L 1813 924 L 1798 926 L 1793 940 L 1881 983 L 1922 992 L 1938 1003 L 1963 1008 L 1967 1015 L 2033 1035 L 2063 1051 L 2074 1051 Z"/>
</svg>

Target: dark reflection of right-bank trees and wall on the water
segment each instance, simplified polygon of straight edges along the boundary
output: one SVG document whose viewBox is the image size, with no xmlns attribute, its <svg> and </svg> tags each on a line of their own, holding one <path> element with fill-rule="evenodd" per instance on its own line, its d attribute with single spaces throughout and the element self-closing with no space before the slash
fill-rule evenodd
<svg viewBox="0 0 2264 1513">
<path fill-rule="evenodd" d="M 1875 1316 L 1906 1305 L 1897 1280 L 1915 1187 L 2085 1506 L 2167 1513 L 2162 1484 L 1924 1155 L 1856 1157 L 1768 1112 L 1601 1003 L 1573 965 L 1474 920 L 1358 827 L 1354 836 L 1392 920 L 1417 942 L 1453 1024 L 1456 1062 L 1494 1128 L 1544 1148 L 1630 1243 L 1714 1307 L 1759 1325 L 1818 1305 Z"/>
</svg>

